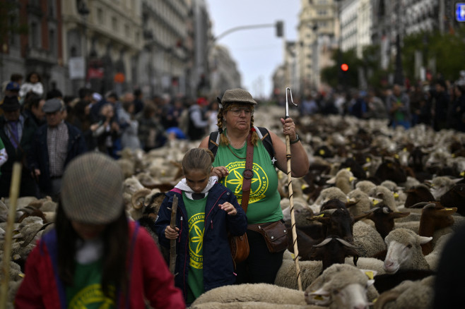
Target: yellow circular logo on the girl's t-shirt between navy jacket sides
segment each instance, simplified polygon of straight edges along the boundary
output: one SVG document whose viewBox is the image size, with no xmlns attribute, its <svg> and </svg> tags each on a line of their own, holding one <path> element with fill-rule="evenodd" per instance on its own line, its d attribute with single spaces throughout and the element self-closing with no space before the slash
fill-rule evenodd
<svg viewBox="0 0 465 309">
<path fill-rule="evenodd" d="M 205 212 L 199 212 L 189 219 L 189 265 L 196 269 L 204 268 Z"/>
</svg>

